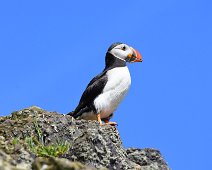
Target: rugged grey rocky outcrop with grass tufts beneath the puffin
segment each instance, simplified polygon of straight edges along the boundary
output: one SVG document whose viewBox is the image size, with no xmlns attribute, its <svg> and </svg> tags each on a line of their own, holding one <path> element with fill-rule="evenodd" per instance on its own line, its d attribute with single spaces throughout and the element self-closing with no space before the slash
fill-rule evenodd
<svg viewBox="0 0 212 170">
<path fill-rule="evenodd" d="M 1 170 L 169 170 L 155 149 L 125 149 L 116 127 L 30 107 L 0 117 Z"/>
</svg>

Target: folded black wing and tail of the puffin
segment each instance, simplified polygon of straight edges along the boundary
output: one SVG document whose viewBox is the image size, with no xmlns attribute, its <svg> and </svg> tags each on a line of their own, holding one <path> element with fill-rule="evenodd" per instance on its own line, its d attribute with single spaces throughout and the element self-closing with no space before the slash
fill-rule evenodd
<svg viewBox="0 0 212 170">
<path fill-rule="evenodd" d="M 108 79 L 106 76 L 106 71 L 103 71 L 102 73 L 94 77 L 82 94 L 82 97 L 76 109 L 68 114 L 73 116 L 74 118 L 77 118 L 82 113 L 89 112 L 92 109 L 95 109 L 93 108 L 93 101 L 98 95 L 102 93 L 107 80 Z"/>
</svg>

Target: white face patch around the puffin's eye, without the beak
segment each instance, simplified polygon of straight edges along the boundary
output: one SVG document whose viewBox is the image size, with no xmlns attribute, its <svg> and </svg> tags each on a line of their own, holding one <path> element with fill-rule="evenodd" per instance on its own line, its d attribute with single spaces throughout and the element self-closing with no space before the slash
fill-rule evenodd
<svg viewBox="0 0 212 170">
<path fill-rule="evenodd" d="M 126 60 L 129 54 L 132 54 L 131 48 L 127 44 L 120 44 L 109 51 L 115 57 Z"/>
</svg>

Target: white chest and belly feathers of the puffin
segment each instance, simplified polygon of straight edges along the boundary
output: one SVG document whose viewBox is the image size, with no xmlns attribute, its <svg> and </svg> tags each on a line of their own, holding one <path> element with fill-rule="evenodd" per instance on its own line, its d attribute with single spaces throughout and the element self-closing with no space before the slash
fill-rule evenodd
<svg viewBox="0 0 212 170">
<path fill-rule="evenodd" d="M 129 90 L 131 77 L 127 67 L 113 68 L 107 72 L 108 81 L 94 105 L 101 118 L 113 113 Z"/>
</svg>

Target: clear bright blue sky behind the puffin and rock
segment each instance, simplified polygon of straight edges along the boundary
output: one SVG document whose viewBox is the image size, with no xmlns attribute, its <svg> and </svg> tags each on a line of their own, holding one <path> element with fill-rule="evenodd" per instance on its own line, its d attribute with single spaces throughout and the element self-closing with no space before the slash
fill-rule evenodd
<svg viewBox="0 0 212 170">
<path fill-rule="evenodd" d="M 37 105 L 67 113 L 102 71 L 107 48 L 143 55 L 115 112 L 125 147 L 157 148 L 169 166 L 208 169 L 212 152 L 212 3 L 0 2 L 0 115 Z"/>
</svg>

